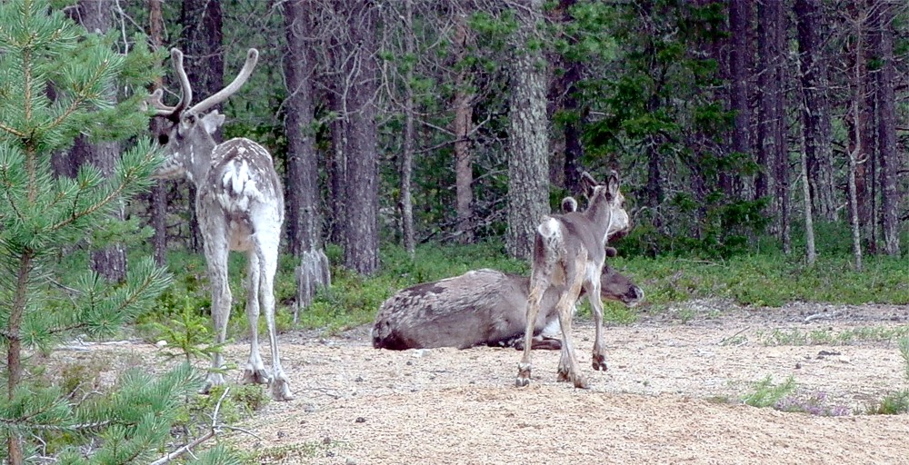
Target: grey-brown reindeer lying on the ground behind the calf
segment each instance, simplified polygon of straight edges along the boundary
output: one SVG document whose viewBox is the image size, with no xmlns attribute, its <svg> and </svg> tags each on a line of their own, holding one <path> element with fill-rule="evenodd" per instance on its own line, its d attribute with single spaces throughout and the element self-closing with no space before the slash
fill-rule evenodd
<svg viewBox="0 0 909 465">
<path fill-rule="evenodd" d="M 641 288 L 608 265 L 601 281 L 604 299 L 631 307 L 644 299 Z M 373 326 L 373 347 L 393 351 L 478 345 L 520 348 L 516 342 L 524 341 L 529 292 L 527 276 L 489 269 L 417 284 L 382 304 Z M 533 349 L 561 348 L 561 341 L 550 332 L 560 292 L 554 286 L 544 293 L 542 310 L 534 322 Z"/>
</svg>

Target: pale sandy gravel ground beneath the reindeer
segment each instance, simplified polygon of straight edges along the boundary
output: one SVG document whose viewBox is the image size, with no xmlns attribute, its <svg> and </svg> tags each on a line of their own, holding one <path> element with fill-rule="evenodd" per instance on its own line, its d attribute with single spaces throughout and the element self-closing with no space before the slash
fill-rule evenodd
<svg viewBox="0 0 909 465">
<path fill-rule="evenodd" d="M 280 342 L 296 400 L 268 403 L 240 425 L 255 437 L 229 440 L 262 463 L 909 463 L 909 415 L 865 414 L 909 388 L 906 331 L 907 306 L 687 302 L 608 327 L 601 372 L 593 325 L 578 322 L 589 390 L 555 381 L 555 351 L 535 351 L 533 383 L 517 389 L 513 349 L 377 351 L 369 327 L 291 331 Z M 156 350 L 93 351 L 136 363 Z M 226 358 L 242 366 L 247 351 Z M 845 414 L 745 405 L 768 376 L 791 377 L 796 403 Z"/>
</svg>

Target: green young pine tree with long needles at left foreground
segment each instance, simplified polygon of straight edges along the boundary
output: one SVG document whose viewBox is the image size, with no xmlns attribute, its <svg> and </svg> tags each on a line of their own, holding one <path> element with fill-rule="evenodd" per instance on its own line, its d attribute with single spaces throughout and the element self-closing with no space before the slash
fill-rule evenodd
<svg viewBox="0 0 909 465">
<path fill-rule="evenodd" d="M 114 335 L 170 282 L 150 258 L 127 263 L 123 282 L 106 282 L 87 265 L 73 272 L 69 261 L 74 252 L 143 239 L 135 220 L 112 213 L 149 186 L 161 162 L 136 137 L 148 121 L 137 110 L 140 96 L 115 104 L 109 92 L 117 84 L 144 94 L 157 59 L 141 40 L 129 54 L 114 41 L 86 33 L 48 0 L 0 3 L 0 462 L 33 461 L 35 445 L 60 434 L 70 440 L 53 452 L 64 462 L 147 462 L 170 440 L 177 407 L 197 386 L 188 367 L 157 379 L 129 372 L 115 391 L 74 403 L 27 363 L 30 349 L 46 351 L 74 333 Z M 52 154 L 65 156 L 78 134 L 137 142 L 108 177 L 90 163 L 75 178 L 55 177 Z M 86 456 L 88 443 L 95 446 Z"/>
</svg>

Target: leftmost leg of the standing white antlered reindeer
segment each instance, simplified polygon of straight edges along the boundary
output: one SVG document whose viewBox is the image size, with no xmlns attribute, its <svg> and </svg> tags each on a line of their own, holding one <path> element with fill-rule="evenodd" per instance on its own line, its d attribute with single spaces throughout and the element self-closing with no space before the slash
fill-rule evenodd
<svg viewBox="0 0 909 465">
<path fill-rule="evenodd" d="M 203 226 L 205 227 L 205 225 Z M 230 318 L 231 292 L 227 282 L 227 239 L 224 228 L 205 227 L 205 262 L 208 263 L 208 279 L 212 286 L 212 322 L 215 328 L 215 344 L 224 344 L 227 339 L 227 320 Z M 208 372 L 201 392 L 207 394 L 215 386 L 225 383 L 224 357 L 220 351 L 212 353 L 212 368 Z"/>
</svg>

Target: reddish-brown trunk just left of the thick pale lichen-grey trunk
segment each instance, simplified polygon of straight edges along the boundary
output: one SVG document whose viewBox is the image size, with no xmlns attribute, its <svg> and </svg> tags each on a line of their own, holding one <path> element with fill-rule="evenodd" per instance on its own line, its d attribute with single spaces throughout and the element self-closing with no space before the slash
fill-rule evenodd
<svg viewBox="0 0 909 465">
<path fill-rule="evenodd" d="M 467 51 L 468 30 L 464 15 L 455 19 L 456 32 L 454 46 L 457 47 L 457 63 L 464 60 Z M 460 70 L 454 77 L 454 178 L 457 211 L 457 229 L 459 242 L 473 242 L 474 229 L 472 218 L 474 211 L 474 162 L 468 137 L 473 123 L 474 95 L 467 87 L 470 75 L 467 70 Z"/>
</svg>

